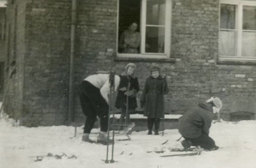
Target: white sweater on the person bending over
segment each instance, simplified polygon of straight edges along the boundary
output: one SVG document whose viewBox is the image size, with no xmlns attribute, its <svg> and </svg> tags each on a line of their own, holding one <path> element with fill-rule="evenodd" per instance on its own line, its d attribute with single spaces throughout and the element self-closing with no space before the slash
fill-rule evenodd
<svg viewBox="0 0 256 168">
<path fill-rule="evenodd" d="M 110 94 L 110 87 L 109 87 L 109 74 L 95 74 L 88 76 L 84 80 L 90 82 L 93 86 L 100 89 L 100 94 L 108 103 L 108 94 Z M 120 84 L 120 77 L 115 75 L 115 90 L 117 90 Z"/>
</svg>

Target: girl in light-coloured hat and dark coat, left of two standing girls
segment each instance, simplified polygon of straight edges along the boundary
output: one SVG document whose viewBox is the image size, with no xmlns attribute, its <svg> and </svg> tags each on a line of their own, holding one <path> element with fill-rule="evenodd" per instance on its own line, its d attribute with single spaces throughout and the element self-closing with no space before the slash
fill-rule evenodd
<svg viewBox="0 0 256 168">
<path fill-rule="evenodd" d="M 130 123 L 130 113 L 135 111 L 137 108 L 136 94 L 139 92 L 139 82 L 138 78 L 135 76 L 136 65 L 133 63 L 129 63 L 125 66 L 125 72 L 122 73 L 122 76 L 127 76 L 129 79 L 129 88 L 127 91 L 118 91 L 116 97 L 115 107 L 117 109 L 121 109 L 120 123 L 124 122 L 124 118 L 126 121 Z M 128 96 L 128 113 L 126 116 L 126 99 Z"/>
</svg>

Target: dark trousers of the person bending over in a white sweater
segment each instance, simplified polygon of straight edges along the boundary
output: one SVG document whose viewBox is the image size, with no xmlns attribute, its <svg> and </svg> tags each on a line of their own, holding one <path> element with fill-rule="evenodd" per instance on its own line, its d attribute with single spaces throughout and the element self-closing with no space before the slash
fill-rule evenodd
<svg viewBox="0 0 256 168">
<path fill-rule="evenodd" d="M 100 89 L 90 82 L 83 81 L 78 85 L 82 111 L 86 116 L 84 133 L 90 133 L 97 116 L 100 117 L 100 131 L 108 131 L 108 104 L 100 94 Z"/>
</svg>

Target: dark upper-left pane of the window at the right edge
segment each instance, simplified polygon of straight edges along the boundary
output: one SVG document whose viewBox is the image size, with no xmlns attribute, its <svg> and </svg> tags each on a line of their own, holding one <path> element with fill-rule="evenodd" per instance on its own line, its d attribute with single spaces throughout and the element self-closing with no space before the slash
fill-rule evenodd
<svg viewBox="0 0 256 168">
<path fill-rule="evenodd" d="M 236 5 L 220 4 L 220 28 L 235 29 Z"/>
</svg>

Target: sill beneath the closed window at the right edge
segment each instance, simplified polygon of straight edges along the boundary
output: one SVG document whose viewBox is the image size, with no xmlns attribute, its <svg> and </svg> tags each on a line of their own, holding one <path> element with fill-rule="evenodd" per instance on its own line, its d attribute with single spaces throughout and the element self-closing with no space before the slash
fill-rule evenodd
<svg viewBox="0 0 256 168">
<path fill-rule="evenodd" d="M 233 65 L 256 65 L 254 57 L 223 57 L 219 56 L 218 64 L 233 64 Z"/>
</svg>

